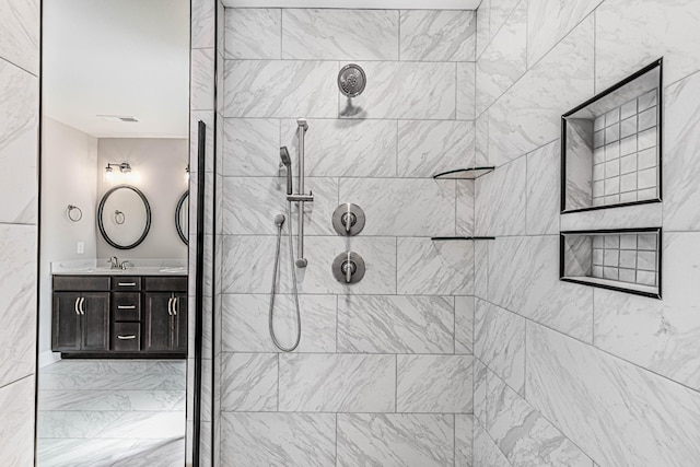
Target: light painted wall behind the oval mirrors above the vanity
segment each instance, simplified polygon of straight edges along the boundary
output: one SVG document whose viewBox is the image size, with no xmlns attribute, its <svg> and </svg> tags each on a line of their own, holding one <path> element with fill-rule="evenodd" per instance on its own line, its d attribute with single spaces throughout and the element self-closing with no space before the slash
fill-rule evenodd
<svg viewBox="0 0 700 467">
<path fill-rule="evenodd" d="M 188 163 L 188 151 L 186 139 L 104 138 L 98 140 L 97 202 L 108 189 L 125 183 L 133 185 L 145 195 L 152 211 L 149 235 L 133 249 L 116 249 L 97 233 L 98 259 L 110 256 L 117 256 L 120 260 L 187 258 L 187 246 L 175 229 L 175 208 L 180 196 L 187 190 L 185 167 Z M 115 180 L 106 182 L 103 174 L 107 163 L 122 162 L 131 165 L 130 177 L 119 180 L 117 170 Z M 97 202 L 94 205 L 95 209 Z M 95 229 L 97 229 L 96 224 Z"/>
</svg>

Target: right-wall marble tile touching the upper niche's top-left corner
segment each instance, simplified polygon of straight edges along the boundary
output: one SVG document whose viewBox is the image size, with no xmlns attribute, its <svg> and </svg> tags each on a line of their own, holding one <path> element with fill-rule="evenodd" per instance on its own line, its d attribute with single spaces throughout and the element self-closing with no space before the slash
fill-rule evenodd
<svg viewBox="0 0 700 467">
<path fill-rule="evenodd" d="M 489 109 L 489 156 L 500 165 L 561 132 L 561 114 L 593 95 L 593 17 L 583 21 Z"/>
</svg>

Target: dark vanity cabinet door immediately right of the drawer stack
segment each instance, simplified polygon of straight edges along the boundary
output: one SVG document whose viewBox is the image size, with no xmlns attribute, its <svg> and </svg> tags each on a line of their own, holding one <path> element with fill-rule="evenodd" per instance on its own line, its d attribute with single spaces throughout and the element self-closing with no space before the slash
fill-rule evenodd
<svg viewBox="0 0 700 467">
<path fill-rule="evenodd" d="M 164 352 L 173 349 L 173 294 L 147 292 L 143 350 Z"/>
</svg>

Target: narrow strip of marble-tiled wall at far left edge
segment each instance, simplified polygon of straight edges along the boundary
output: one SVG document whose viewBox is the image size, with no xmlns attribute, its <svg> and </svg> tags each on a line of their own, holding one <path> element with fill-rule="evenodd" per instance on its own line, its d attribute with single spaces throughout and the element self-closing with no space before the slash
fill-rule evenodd
<svg viewBox="0 0 700 467">
<path fill-rule="evenodd" d="M 39 1 L 0 7 L 0 453 L 34 462 Z"/>
</svg>

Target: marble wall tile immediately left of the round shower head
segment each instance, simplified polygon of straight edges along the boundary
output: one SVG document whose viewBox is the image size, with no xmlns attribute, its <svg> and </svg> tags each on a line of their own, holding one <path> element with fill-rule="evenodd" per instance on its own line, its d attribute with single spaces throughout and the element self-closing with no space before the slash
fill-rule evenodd
<svg viewBox="0 0 700 467">
<path fill-rule="evenodd" d="M 337 63 L 226 60 L 224 117 L 334 118 Z"/>
</svg>

